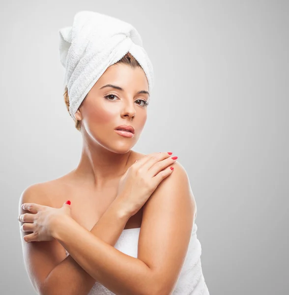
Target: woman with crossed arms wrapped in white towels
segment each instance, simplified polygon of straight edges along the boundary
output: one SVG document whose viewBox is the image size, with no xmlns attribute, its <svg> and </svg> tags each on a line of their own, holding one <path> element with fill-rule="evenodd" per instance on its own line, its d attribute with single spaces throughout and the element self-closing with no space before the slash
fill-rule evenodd
<svg viewBox="0 0 289 295">
<path fill-rule="evenodd" d="M 81 26 L 81 36 L 87 17 L 100 17 L 76 16 L 73 28 Z M 73 88 L 73 73 L 89 55 L 87 45 L 69 71 L 77 52 L 74 32 L 64 63 L 64 96 L 83 138 L 81 159 L 67 175 L 29 186 L 19 203 L 24 260 L 35 290 L 41 295 L 209 294 L 185 170 L 172 152 L 145 155 L 131 149 L 144 128 L 151 89 L 144 59 L 135 53 L 142 67 L 130 52 L 122 54 L 99 75 L 94 72 L 95 83 L 82 80 Z M 90 35 L 88 43 L 92 40 Z M 77 91 L 85 93 L 80 89 L 85 83 L 82 98 Z"/>
</svg>

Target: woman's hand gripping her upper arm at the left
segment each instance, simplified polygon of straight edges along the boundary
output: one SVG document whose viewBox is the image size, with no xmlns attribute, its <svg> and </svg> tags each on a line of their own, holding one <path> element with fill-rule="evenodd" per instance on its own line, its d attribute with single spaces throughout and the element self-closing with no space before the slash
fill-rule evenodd
<svg viewBox="0 0 289 295">
<path fill-rule="evenodd" d="M 71 217 L 70 205 L 66 202 L 61 208 L 43 206 L 35 203 L 22 204 L 24 210 L 32 213 L 24 213 L 18 216 L 20 222 L 25 222 L 21 226 L 21 231 L 32 232 L 32 234 L 24 236 L 26 242 L 32 241 L 51 241 L 54 239 L 52 231 L 64 216 Z"/>
</svg>

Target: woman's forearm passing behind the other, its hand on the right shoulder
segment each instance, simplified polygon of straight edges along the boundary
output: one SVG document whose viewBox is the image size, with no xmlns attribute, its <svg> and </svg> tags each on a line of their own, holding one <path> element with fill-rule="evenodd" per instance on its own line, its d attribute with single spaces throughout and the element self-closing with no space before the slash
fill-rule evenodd
<svg viewBox="0 0 289 295">
<path fill-rule="evenodd" d="M 90 231 L 112 246 L 116 244 L 129 218 L 119 208 L 116 203 L 112 203 Z M 68 255 L 50 272 L 42 286 L 41 295 L 87 295 L 95 281 Z"/>
</svg>

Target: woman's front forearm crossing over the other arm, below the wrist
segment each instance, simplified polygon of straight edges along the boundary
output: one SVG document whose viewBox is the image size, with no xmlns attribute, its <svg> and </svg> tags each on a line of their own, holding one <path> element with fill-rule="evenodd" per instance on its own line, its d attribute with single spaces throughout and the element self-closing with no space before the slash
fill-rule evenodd
<svg viewBox="0 0 289 295">
<path fill-rule="evenodd" d="M 53 236 L 91 277 L 115 294 L 156 294 L 155 277 L 143 261 L 118 251 L 74 219 L 62 220 Z"/>
</svg>

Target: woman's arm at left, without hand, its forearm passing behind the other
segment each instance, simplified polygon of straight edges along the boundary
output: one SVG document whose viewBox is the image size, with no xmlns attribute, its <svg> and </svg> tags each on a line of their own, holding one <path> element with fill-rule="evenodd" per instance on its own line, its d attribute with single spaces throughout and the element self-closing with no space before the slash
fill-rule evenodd
<svg viewBox="0 0 289 295">
<path fill-rule="evenodd" d="M 22 209 L 21 205 L 24 203 L 51 206 L 40 200 L 39 196 L 43 194 L 41 184 L 29 186 L 21 195 L 19 215 L 29 213 Z M 119 209 L 118 203 L 113 202 L 90 231 L 112 246 L 116 244 L 130 217 Z M 23 223 L 20 222 L 20 226 Z M 39 295 L 87 295 L 89 293 L 95 283 L 94 278 L 70 255 L 66 257 L 63 246 L 56 239 L 27 243 L 24 236 L 30 233 L 20 232 L 29 279 Z"/>
</svg>

